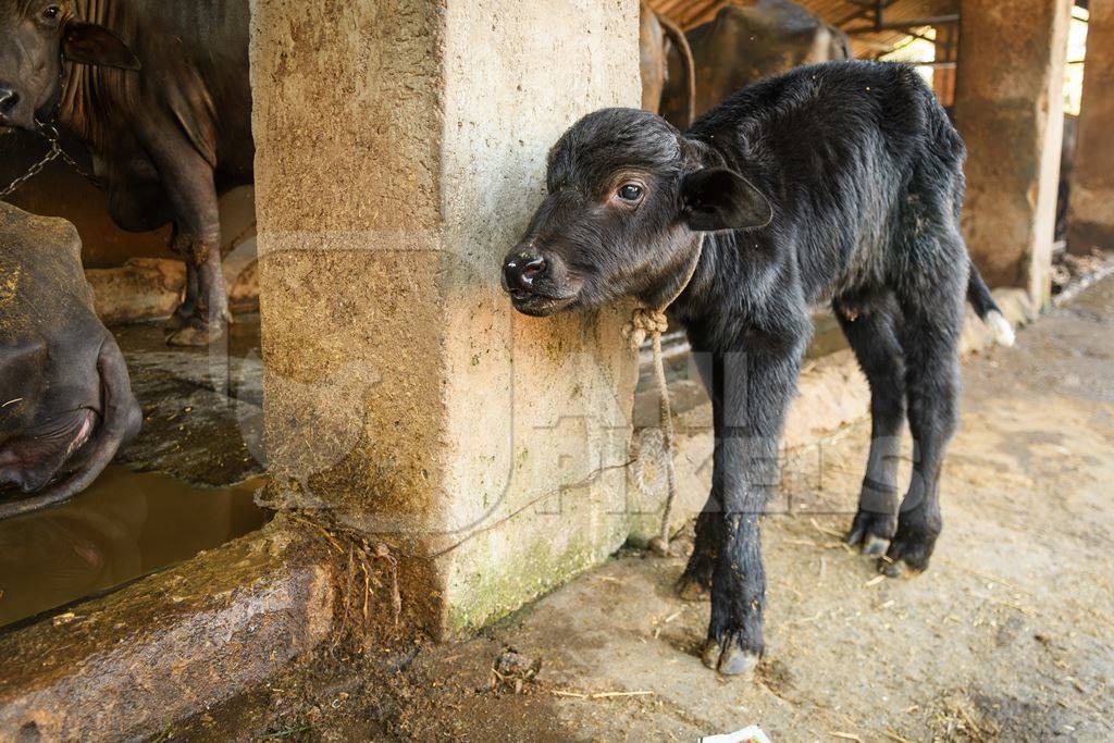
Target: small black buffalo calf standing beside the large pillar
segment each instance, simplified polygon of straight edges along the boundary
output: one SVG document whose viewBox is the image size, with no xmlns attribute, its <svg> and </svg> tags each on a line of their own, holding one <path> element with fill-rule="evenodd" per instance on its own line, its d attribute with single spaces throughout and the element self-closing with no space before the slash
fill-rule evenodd
<svg viewBox="0 0 1114 743">
<path fill-rule="evenodd" d="M 873 62 L 764 80 L 684 134 L 643 111 L 597 111 L 549 154 L 548 196 L 504 266 L 515 306 L 547 315 L 634 295 L 657 307 L 683 287 L 672 309 L 716 440 L 680 588 L 711 589 L 703 655 L 721 673 L 749 671 L 763 649 L 760 516 L 817 302 L 832 304 L 872 394 L 850 540 L 891 573 L 928 566 L 965 296 L 1009 336 L 960 236 L 964 156 L 917 74 Z M 900 498 L 907 418 L 916 461 Z"/>
</svg>

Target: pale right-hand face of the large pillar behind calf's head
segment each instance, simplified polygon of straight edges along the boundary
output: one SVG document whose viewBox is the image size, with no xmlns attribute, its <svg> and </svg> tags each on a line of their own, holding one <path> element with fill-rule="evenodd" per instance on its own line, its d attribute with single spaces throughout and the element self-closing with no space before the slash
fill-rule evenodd
<svg viewBox="0 0 1114 743">
<path fill-rule="evenodd" d="M 597 108 L 638 106 L 638 3 L 450 2 L 447 27 L 446 485 L 453 544 L 467 539 L 448 596 L 450 623 L 471 626 L 626 539 L 628 310 L 525 317 L 498 267 L 541 198 L 557 137 Z"/>
</svg>

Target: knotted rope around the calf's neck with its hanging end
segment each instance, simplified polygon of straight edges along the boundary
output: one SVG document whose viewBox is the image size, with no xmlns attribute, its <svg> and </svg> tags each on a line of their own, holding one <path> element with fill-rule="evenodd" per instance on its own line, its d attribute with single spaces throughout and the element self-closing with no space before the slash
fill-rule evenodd
<svg viewBox="0 0 1114 743">
<path fill-rule="evenodd" d="M 670 404 L 670 389 L 665 379 L 665 362 L 662 359 L 662 333 L 668 326 L 670 321 L 665 311 L 677 301 L 677 297 L 688 287 L 693 276 L 696 275 L 696 266 L 700 265 L 701 255 L 704 252 L 704 234 L 701 233 L 696 243 L 696 251 L 693 254 L 692 264 L 688 266 L 688 274 L 681 282 L 677 291 L 673 293 L 665 303 L 657 309 L 636 307 L 628 322 L 623 327 L 623 334 L 631 343 L 631 348 L 637 352 L 648 338 L 654 350 L 654 378 L 657 380 L 658 401 L 658 424 L 662 429 L 662 448 L 665 450 L 665 509 L 662 514 L 662 526 L 657 536 L 649 540 L 649 548 L 661 557 L 670 555 L 670 518 L 673 515 L 673 502 L 677 496 L 677 475 L 673 466 L 673 407 Z"/>
</svg>

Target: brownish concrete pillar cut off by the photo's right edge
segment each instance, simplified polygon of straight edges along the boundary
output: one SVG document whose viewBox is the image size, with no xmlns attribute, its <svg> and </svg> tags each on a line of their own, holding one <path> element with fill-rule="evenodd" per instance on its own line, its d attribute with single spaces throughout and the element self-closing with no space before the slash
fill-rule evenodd
<svg viewBox="0 0 1114 743">
<path fill-rule="evenodd" d="M 1083 67 L 1079 144 L 1068 202 L 1067 246 L 1114 250 L 1114 0 L 1087 6 L 1087 57 Z"/>
</svg>

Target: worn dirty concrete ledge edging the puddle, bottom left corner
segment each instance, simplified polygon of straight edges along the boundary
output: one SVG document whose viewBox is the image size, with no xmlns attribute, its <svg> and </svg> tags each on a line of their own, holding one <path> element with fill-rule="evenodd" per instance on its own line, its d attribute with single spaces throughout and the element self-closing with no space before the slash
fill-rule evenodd
<svg viewBox="0 0 1114 743">
<path fill-rule="evenodd" d="M 330 555 L 287 524 L 0 634 L 0 741 L 155 735 L 329 637 Z"/>
</svg>

